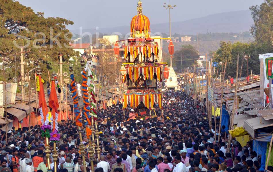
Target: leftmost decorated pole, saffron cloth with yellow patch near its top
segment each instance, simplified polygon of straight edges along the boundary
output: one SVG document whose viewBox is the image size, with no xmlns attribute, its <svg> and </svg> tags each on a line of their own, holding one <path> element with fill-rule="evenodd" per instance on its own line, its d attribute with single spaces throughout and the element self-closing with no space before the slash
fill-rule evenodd
<svg viewBox="0 0 273 172">
<path fill-rule="evenodd" d="M 41 127 L 41 131 L 42 131 L 42 137 L 45 137 L 45 153 L 46 153 L 46 157 L 47 157 L 47 167 L 48 170 L 51 171 L 50 168 L 50 146 L 49 146 L 49 142 L 48 142 L 48 138 L 50 138 L 50 132 L 49 130 L 51 129 L 51 126 L 48 125 L 49 123 L 49 112 L 48 112 L 48 108 L 47 108 L 47 102 L 45 101 L 45 93 L 44 93 L 44 87 L 43 87 L 43 83 L 44 80 L 41 78 L 41 67 L 38 65 L 38 69 L 36 71 L 37 76 L 37 83 L 36 83 L 36 90 L 39 92 L 39 113 L 41 115 L 41 122 L 42 122 L 42 127 Z"/>
</svg>

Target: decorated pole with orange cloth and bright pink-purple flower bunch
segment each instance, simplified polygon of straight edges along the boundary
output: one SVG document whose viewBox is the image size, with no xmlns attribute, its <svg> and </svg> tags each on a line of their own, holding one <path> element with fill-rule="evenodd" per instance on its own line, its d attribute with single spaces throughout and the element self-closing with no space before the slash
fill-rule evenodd
<svg viewBox="0 0 273 172">
<path fill-rule="evenodd" d="M 49 107 L 52 109 L 52 117 L 51 117 L 51 130 L 52 132 L 50 133 L 50 141 L 53 142 L 53 150 L 52 150 L 52 157 L 54 161 L 54 172 L 57 171 L 57 160 L 58 160 L 58 154 L 57 154 L 57 149 L 56 149 L 56 142 L 59 142 L 60 140 L 60 134 L 58 134 L 58 108 L 59 108 L 59 103 L 58 103 L 58 98 L 57 98 L 57 93 L 55 89 L 55 76 L 54 74 L 51 75 L 51 91 L 50 91 L 50 96 L 49 96 Z"/>
</svg>

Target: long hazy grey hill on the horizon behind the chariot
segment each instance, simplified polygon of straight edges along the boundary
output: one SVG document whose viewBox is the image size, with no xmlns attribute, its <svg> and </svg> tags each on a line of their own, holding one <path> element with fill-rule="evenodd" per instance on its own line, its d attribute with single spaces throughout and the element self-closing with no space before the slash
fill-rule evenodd
<svg viewBox="0 0 273 172">
<path fill-rule="evenodd" d="M 179 34 L 194 34 L 197 33 L 207 33 L 207 32 L 244 32 L 249 31 L 250 26 L 253 24 L 253 19 L 251 18 L 251 11 L 232 11 L 225 13 L 212 14 L 201 18 L 190 19 L 186 21 L 173 22 L 172 23 L 172 33 Z M 91 26 L 90 26 L 91 27 Z M 79 30 L 71 30 L 72 32 L 78 34 Z M 118 26 L 112 28 L 99 28 L 95 29 L 84 29 L 84 32 L 89 33 L 104 33 L 112 34 L 114 32 L 119 32 L 122 34 L 127 34 L 130 32 L 130 26 Z M 151 24 L 151 32 L 161 32 L 169 33 L 169 24 Z"/>
</svg>

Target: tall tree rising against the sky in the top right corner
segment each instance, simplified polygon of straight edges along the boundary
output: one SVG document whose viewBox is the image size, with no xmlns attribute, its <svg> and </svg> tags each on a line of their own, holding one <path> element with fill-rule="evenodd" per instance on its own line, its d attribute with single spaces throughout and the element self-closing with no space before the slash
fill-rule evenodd
<svg viewBox="0 0 273 172">
<path fill-rule="evenodd" d="M 249 9 L 254 20 L 250 31 L 256 41 L 269 42 L 273 46 L 273 1 L 265 0 L 260 6 L 251 6 Z"/>
</svg>

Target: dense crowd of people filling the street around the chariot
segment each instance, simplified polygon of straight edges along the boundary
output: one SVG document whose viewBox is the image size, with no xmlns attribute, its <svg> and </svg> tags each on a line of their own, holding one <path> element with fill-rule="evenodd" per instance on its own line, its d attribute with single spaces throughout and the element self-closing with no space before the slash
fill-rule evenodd
<svg viewBox="0 0 273 172">
<path fill-rule="evenodd" d="M 228 134 L 222 130 L 215 138 L 206 108 L 195 106 L 190 96 L 166 91 L 163 103 L 164 115 L 152 119 L 127 120 L 130 109 L 125 110 L 124 118 L 122 104 L 97 110 L 101 152 L 95 148 L 95 172 L 259 172 L 261 157 L 252 150 L 251 142 L 241 145 L 233 139 L 227 150 Z M 157 106 L 155 112 L 160 114 Z M 59 133 L 57 171 L 84 171 L 75 122 L 60 122 Z M 82 143 L 86 169 L 91 171 L 85 134 Z M 50 146 L 52 150 L 53 143 Z M 0 150 L 0 172 L 47 172 L 48 165 L 54 169 L 52 154 L 47 164 L 45 138 L 38 126 L 12 128 L 7 139 L 1 130 Z"/>
</svg>

